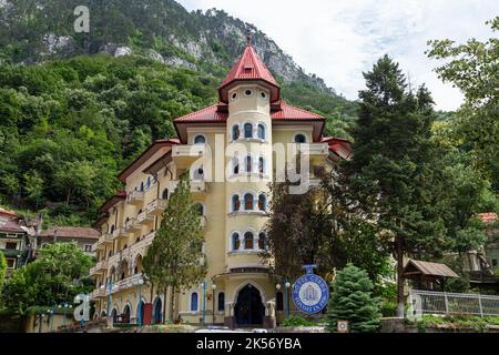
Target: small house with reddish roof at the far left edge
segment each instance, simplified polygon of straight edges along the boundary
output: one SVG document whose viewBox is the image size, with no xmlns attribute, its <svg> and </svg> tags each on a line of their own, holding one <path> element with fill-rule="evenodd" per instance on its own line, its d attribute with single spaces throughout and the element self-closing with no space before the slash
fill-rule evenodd
<svg viewBox="0 0 499 355">
<path fill-rule="evenodd" d="M 0 251 L 6 255 L 7 276 L 24 263 L 28 245 L 28 232 L 18 214 L 0 209 Z"/>
</svg>

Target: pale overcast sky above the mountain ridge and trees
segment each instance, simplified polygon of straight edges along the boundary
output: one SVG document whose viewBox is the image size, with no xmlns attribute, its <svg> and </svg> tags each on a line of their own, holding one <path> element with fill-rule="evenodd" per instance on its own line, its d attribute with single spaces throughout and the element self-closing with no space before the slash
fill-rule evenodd
<svg viewBox="0 0 499 355">
<path fill-rule="evenodd" d="M 177 0 L 187 10 L 223 9 L 255 24 L 308 73 L 348 99 L 364 89 L 363 71 L 388 53 L 414 85 L 426 83 L 437 108 L 455 110 L 460 92 L 437 78 L 427 40 L 459 42 L 492 36 L 497 0 Z"/>
</svg>

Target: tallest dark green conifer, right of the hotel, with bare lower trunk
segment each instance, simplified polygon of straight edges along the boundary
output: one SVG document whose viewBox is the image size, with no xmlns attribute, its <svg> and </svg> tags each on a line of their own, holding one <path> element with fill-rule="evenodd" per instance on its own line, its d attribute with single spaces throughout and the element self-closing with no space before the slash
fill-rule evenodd
<svg viewBox="0 0 499 355">
<path fill-rule="evenodd" d="M 398 315 L 404 315 L 404 255 L 430 257 L 449 247 L 441 213 L 441 172 L 430 140 L 435 114 L 425 87 L 408 91 L 390 58 L 364 73 L 360 113 L 353 131 L 353 159 L 346 163 L 350 201 L 376 221 L 397 260 Z M 444 181 L 445 182 L 445 181 Z"/>
</svg>

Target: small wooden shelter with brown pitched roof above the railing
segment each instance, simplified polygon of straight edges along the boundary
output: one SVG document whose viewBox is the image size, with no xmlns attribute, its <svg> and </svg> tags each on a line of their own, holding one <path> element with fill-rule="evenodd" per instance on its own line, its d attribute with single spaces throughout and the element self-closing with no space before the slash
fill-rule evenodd
<svg viewBox="0 0 499 355">
<path fill-rule="evenodd" d="M 414 285 L 419 290 L 435 290 L 438 285 L 444 288 L 444 285 L 449 278 L 459 278 L 449 266 L 446 264 L 421 262 L 416 260 L 408 261 L 404 268 L 403 277 L 411 280 Z"/>
</svg>

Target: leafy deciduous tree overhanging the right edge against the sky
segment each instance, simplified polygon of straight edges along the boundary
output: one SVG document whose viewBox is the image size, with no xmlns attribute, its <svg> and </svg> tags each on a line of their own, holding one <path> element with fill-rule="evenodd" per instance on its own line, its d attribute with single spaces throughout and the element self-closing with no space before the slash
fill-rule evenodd
<svg viewBox="0 0 499 355">
<path fill-rule="evenodd" d="M 499 30 L 499 17 L 489 21 L 492 32 Z M 436 71 L 445 82 L 465 94 L 458 111 L 460 135 L 477 153 L 477 166 L 499 191 L 499 39 L 486 42 L 470 39 L 456 44 L 451 40 L 429 41 L 428 57 L 445 60 Z"/>
</svg>

